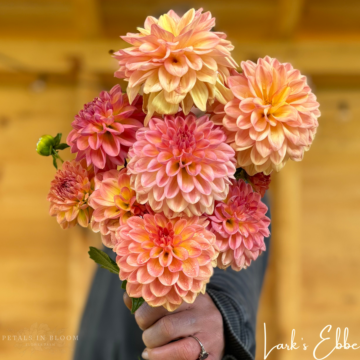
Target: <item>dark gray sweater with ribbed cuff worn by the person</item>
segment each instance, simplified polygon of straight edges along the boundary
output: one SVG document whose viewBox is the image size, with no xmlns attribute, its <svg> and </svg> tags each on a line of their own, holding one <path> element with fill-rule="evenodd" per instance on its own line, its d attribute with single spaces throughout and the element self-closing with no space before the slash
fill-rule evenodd
<svg viewBox="0 0 360 360">
<path fill-rule="evenodd" d="M 267 204 L 266 196 L 263 201 Z M 266 215 L 270 217 L 270 211 Z M 206 291 L 224 319 L 223 360 L 253 360 L 255 357 L 256 313 L 269 240 L 265 239 L 266 252 L 248 269 L 237 272 L 216 268 L 207 285 Z M 104 251 L 113 259 L 116 257 L 111 249 Z M 141 359 L 145 347 L 142 331 L 123 303 L 123 292 L 118 275 L 99 267 L 82 317 L 74 360 Z"/>
</svg>

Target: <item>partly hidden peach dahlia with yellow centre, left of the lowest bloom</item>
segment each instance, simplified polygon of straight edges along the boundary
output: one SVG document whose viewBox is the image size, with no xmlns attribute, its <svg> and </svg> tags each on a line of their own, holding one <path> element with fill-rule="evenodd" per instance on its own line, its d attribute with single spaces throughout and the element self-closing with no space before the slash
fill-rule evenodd
<svg viewBox="0 0 360 360">
<path fill-rule="evenodd" d="M 145 205 L 136 201 L 136 194 L 130 188 L 130 176 L 126 168 L 109 170 L 95 175 L 95 191 L 89 204 L 94 208 L 91 227 L 100 231 L 103 243 L 114 247 L 115 230 L 126 223 L 130 216 L 143 216 L 148 212 Z"/>
</svg>

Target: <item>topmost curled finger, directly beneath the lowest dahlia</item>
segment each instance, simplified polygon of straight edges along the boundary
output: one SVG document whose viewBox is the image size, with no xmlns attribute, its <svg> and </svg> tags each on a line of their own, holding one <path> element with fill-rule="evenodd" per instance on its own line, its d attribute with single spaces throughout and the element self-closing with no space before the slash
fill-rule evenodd
<svg viewBox="0 0 360 360">
<path fill-rule="evenodd" d="M 151 307 L 147 303 L 144 303 L 135 312 L 135 320 L 141 330 L 145 330 L 152 324 L 156 323 L 163 316 L 169 314 L 175 314 L 177 312 L 189 309 L 192 304 L 183 302 L 176 310 L 169 312 L 163 306 Z"/>
</svg>

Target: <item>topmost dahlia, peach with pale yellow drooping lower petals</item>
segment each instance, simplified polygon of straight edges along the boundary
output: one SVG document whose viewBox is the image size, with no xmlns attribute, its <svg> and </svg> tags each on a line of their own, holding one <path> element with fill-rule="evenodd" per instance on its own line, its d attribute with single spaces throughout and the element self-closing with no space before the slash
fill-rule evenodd
<svg viewBox="0 0 360 360">
<path fill-rule="evenodd" d="M 186 115 L 194 104 L 205 111 L 215 98 L 226 104 L 224 81 L 238 65 L 226 35 L 210 31 L 214 25 L 215 18 L 202 9 L 181 18 L 170 10 L 159 19 L 148 16 L 139 33 L 121 37 L 131 48 L 115 53 L 120 65 L 115 76 L 129 81 L 129 99 L 143 85 L 145 125 L 154 112 L 175 114 L 180 104 Z"/>
</svg>

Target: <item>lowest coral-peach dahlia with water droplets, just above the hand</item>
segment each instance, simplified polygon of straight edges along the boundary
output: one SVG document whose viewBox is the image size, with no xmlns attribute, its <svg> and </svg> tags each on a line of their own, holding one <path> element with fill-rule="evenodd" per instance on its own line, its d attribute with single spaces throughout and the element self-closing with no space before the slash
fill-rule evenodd
<svg viewBox="0 0 360 360">
<path fill-rule="evenodd" d="M 114 251 L 130 297 L 174 311 L 205 292 L 219 255 L 206 217 L 130 217 L 116 230 Z"/>
</svg>

